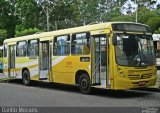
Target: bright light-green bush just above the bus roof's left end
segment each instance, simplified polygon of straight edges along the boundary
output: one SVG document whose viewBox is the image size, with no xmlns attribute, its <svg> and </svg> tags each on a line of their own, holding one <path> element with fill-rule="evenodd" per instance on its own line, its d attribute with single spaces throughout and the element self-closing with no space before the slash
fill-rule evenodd
<svg viewBox="0 0 160 113">
<path fill-rule="evenodd" d="M 37 32 L 41 32 L 41 31 L 39 29 L 37 29 L 37 28 L 29 28 L 29 29 L 25 29 L 23 31 L 16 31 L 16 37 L 25 36 L 25 35 L 31 35 L 31 34 L 35 34 Z"/>
</svg>

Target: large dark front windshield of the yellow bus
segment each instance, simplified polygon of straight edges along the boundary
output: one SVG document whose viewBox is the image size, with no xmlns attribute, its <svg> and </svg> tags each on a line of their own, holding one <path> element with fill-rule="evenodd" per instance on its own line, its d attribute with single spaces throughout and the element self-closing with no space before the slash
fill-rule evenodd
<svg viewBox="0 0 160 113">
<path fill-rule="evenodd" d="M 123 66 L 154 65 L 154 47 L 151 35 L 115 34 L 116 62 Z"/>
</svg>

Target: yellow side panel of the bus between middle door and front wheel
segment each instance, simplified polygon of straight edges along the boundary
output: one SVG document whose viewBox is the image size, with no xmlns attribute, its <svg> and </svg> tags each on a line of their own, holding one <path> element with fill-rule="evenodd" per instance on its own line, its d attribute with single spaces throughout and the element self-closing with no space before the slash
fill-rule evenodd
<svg viewBox="0 0 160 113">
<path fill-rule="evenodd" d="M 90 62 L 81 62 L 81 57 L 85 56 L 56 56 L 52 59 L 53 82 L 75 84 L 75 75 L 79 70 L 86 71 L 89 75 Z M 80 66 L 80 67 L 79 67 Z"/>
</svg>

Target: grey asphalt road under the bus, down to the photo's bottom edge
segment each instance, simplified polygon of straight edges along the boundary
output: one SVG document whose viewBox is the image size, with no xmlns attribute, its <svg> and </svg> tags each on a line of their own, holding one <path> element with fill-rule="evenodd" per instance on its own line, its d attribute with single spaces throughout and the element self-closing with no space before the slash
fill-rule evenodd
<svg viewBox="0 0 160 113">
<path fill-rule="evenodd" d="M 27 87 L 21 80 L 0 82 L 0 113 L 13 112 L 160 113 L 160 89 L 157 85 L 128 91 L 93 89 L 91 95 L 84 95 L 76 86 L 33 82 Z"/>
</svg>

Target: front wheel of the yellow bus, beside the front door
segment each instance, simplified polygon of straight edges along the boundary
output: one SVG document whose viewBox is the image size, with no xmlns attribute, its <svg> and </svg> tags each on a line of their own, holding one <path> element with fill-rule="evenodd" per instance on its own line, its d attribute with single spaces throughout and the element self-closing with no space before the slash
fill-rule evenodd
<svg viewBox="0 0 160 113">
<path fill-rule="evenodd" d="M 84 94 L 89 94 L 91 92 L 90 78 L 85 73 L 79 77 L 79 89 Z"/>
</svg>

